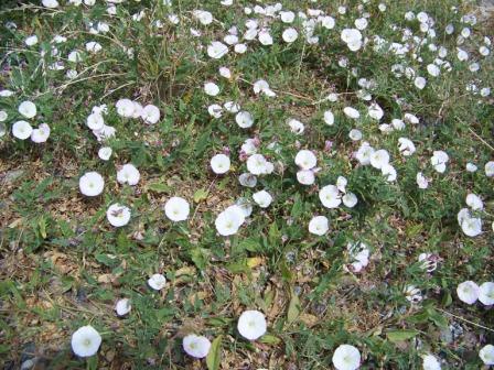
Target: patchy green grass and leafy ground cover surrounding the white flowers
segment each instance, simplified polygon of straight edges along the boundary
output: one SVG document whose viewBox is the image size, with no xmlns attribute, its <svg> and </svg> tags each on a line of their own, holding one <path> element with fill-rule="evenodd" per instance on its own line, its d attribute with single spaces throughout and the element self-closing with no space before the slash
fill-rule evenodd
<svg viewBox="0 0 494 370">
<path fill-rule="evenodd" d="M 494 341 L 491 307 L 468 306 L 455 293 L 465 280 L 479 284 L 492 280 L 494 215 L 493 178 L 483 166 L 493 160 L 492 97 L 466 91 L 469 83 L 493 87 L 492 56 L 476 52 L 482 35 L 488 35 L 492 19 L 480 19 L 470 26 L 472 36 L 463 48 L 479 59 L 481 69 L 471 73 L 469 63 L 455 57 L 455 36 L 464 26 L 461 17 L 476 12 L 473 2 L 389 1 L 387 10 L 377 2 L 365 4 L 369 28 L 363 33 L 400 42 L 390 25 L 409 26 L 421 35 L 418 22 L 406 22 L 406 11 L 427 11 L 436 21 L 434 43 L 444 45 L 451 72 L 440 77 L 427 75 L 425 65 L 436 54 L 423 50 L 421 65 L 410 56 L 400 59 L 372 45 L 351 53 L 340 40 L 344 25 L 358 17 L 357 1 L 346 1 L 346 15 L 337 15 L 336 2 L 281 1 L 283 8 L 318 8 L 336 19 L 334 30 L 318 29 L 319 45 L 304 43 L 300 33 L 293 44 L 281 41 L 284 24 L 271 25 L 275 44 L 248 43 L 246 54 L 233 51 L 216 61 L 200 46 L 223 39 L 226 30 L 254 18 L 243 13 L 247 2 L 232 7 L 213 2 L 174 1 L 173 12 L 181 24 L 167 21 L 168 7 L 152 1 L 126 2 L 109 17 L 106 6 L 63 6 L 54 10 L 37 3 L 0 9 L 0 86 L 15 94 L 0 98 L 0 110 L 9 115 L 8 134 L 0 140 L 0 363 L 20 368 L 35 358 L 49 369 L 200 369 L 205 361 L 193 360 L 182 350 L 181 338 L 189 333 L 222 336 L 219 369 L 330 369 L 331 357 L 341 344 L 352 344 L 362 353 L 365 369 L 419 369 L 420 356 L 434 353 L 447 369 L 479 369 L 479 349 Z M 384 1 L 385 2 L 385 1 Z M 343 3 L 343 2 L 342 2 Z M 254 4 L 250 4 L 254 6 Z M 458 13 L 451 7 L 459 7 Z M 146 9 L 141 21 L 131 14 Z M 191 12 L 204 9 L 216 21 L 201 25 Z M 15 31 L 4 26 L 7 21 Z M 88 23 L 105 20 L 106 34 L 93 35 Z M 153 21 L 161 20 L 158 29 Z M 448 23 L 457 28 L 448 36 Z M 302 29 L 300 20 L 294 28 Z M 190 35 L 201 30 L 201 37 Z M 39 44 L 28 47 L 24 40 L 36 34 Z M 55 34 L 67 37 L 57 44 L 60 61 L 75 68 L 78 76 L 67 79 L 65 72 L 47 68 L 58 61 L 49 53 Z M 97 41 L 103 50 L 85 51 L 85 43 Z M 66 59 L 73 50 L 83 51 L 77 66 Z M 129 57 L 126 50 L 133 48 Z M 491 47 L 492 48 L 492 47 Z M 492 53 L 491 53 L 492 54 Z M 346 57 L 348 68 L 339 66 Z M 470 62 L 470 61 L 469 61 Z M 391 66 L 407 63 L 427 77 L 418 90 L 406 78 L 396 78 Z M 228 66 L 234 77 L 218 76 Z M 351 68 L 356 68 L 355 74 Z M 368 118 L 368 102 L 357 98 L 358 79 L 374 79 L 373 101 L 384 109 L 383 122 L 411 112 L 417 126 L 383 134 Z M 253 92 L 264 78 L 276 98 Z M 221 95 L 210 97 L 203 84 L 214 80 Z M 324 98 L 337 92 L 339 101 Z M 155 126 L 119 117 L 114 107 L 120 98 L 154 104 L 161 119 Z M 397 99 L 406 104 L 399 105 Z M 34 144 L 13 138 L 11 124 L 20 119 L 20 101 L 35 102 L 39 119 L 52 129 L 49 141 Z M 213 119 L 207 107 L 213 102 L 238 101 L 255 118 L 251 129 L 243 130 L 234 116 Z M 106 104 L 107 124 L 117 135 L 107 144 L 114 154 L 100 161 L 100 148 L 85 124 L 93 106 Z M 361 111 L 353 121 L 343 108 Z M 324 124 L 323 112 L 331 109 L 336 124 Z M 297 118 L 305 132 L 290 132 L 287 120 Z M 41 122 L 41 121 L 40 121 Z M 398 172 L 398 179 L 385 181 L 372 166 L 358 166 L 352 159 L 359 143 L 348 138 L 357 128 L 376 149 L 386 149 Z M 275 163 L 273 174 L 259 177 L 254 189 L 241 187 L 237 176 L 246 171 L 238 151 L 247 138 L 257 135 L 260 152 Z M 417 152 L 399 154 L 398 138 L 414 141 Z M 331 150 L 324 150 L 331 140 Z M 276 142 L 278 150 L 269 148 Z M 224 176 L 210 170 L 211 157 L 228 148 L 232 168 Z M 293 163 L 299 149 L 318 153 L 314 186 L 297 182 Z M 430 166 L 436 150 L 448 152 L 444 174 Z M 116 168 L 133 163 L 141 179 L 135 187 L 119 185 Z M 465 171 L 473 162 L 479 171 Z M 98 171 L 106 181 L 96 198 L 84 197 L 78 178 Z M 422 171 L 431 178 L 428 189 L 416 184 Z M 318 191 L 334 184 L 337 176 L 348 179 L 347 188 L 358 197 L 355 208 L 325 209 Z M 275 198 L 269 208 L 254 206 L 253 216 L 238 235 L 221 237 L 214 227 L 216 216 L 238 197 L 251 198 L 266 188 Z M 465 207 L 465 196 L 474 193 L 484 199 L 483 233 L 466 237 L 457 221 Z M 187 221 L 173 224 L 164 217 L 162 205 L 181 196 L 192 206 Z M 129 225 L 114 228 L 106 209 L 115 202 L 131 208 Z M 323 237 L 308 232 L 314 215 L 330 218 Z M 363 241 L 370 249 L 370 262 L 362 273 L 348 273 L 346 244 Z M 438 269 L 428 274 L 418 255 L 439 255 Z M 148 278 L 161 272 L 169 283 L 151 291 Z M 415 285 L 425 300 L 411 305 L 404 289 Z M 119 318 L 115 302 L 128 297 L 131 313 Z M 264 312 L 268 334 L 249 342 L 236 328 L 240 313 L 248 308 Z M 90 324 L 103 336 L 98 355 L 77 358 L 71 349 L 71 335 Z M 214 367 L 207 364 L 210 370 Z"/>
</svg>

